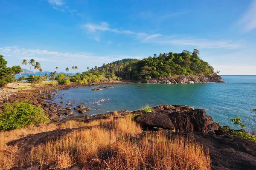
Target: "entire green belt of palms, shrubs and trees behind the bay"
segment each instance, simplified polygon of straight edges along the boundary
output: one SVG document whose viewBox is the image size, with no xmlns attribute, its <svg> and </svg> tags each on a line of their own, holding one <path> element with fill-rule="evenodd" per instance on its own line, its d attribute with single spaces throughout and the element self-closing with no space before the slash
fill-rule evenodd
<svg viewBox="0 0 256 170">
<path fill-rule="evenodd" d="M 218 74 L 219 71 L 214 73 L 213 67 L 208 64 L 208 62 L 203 61 L 199 56 L 199 51 L 194 49 L 193 52 L 184 50 L 181 53 L 163 53 L 154 54 L 154 57 L 149 56 L 144 59 L 122 59 L 114 61 L 108 64 L 103 64 L 101 67 L 95 66 L 94 68 L 75 75 L 68 74 L 70 69 L 67 67 L 65 69 L 66 74 L 58 74 L 55 68 L 54 72 L 50 74 L 43 72 L 41 64 L 36 62 L 34 59 L 27 61 L 23 59 L 21 64 L 30 65 L 29 75 L 27 77 L 23 76 L 19 79 L 15 79 L 14 75 L 22 72 L 20 66 L 13 66 L 10 69 L 1 70 L 5 72 L 5 78 L 0 81 L 0 87 L 6 85 L 9 82 L 32 82 L 33 84 L 38 84 L 43 81 L 57 81 L 58 84 L 69 84 L 70 82 L 76 82 L 79 84 L 87 84 L 88 82 L 102 82 L 102 81 L 113 81 L 113 80 L 149 80 L 158 78 L 170 78 L 184 75 L 210 75 Z M 4 64 L 5 61 L 1 55 L 1 63 Z M 7 62 L 6 62 L 7 63 Z M 31 69 L 34 69 L 32 75 L 30 75 Z M 72 70 L 76 71 L 77 66 L 72 66 Z M 23 68 L 24 70 L 24 68 Z M 8 72 L 9 71 L 9 72 Z M 39 72 L 39 76 L 35 75 L 35 71 Z M 9 76 L 6 76 L 9 75 Z M 1 76 L 1 75 L 0 75 Z M 2 76 L 3 77 L 3 76 Z M 68 77 L 68 78 L 67 78 Z M 0 77 L 1 78 L 1 77 Z"/>
</svg>

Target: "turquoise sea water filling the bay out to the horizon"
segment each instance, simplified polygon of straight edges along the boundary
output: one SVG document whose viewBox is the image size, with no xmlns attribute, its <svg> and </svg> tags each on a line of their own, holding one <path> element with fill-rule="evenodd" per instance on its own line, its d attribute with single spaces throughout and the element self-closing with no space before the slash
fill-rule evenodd
<svg viewBox="0 0 256 170">
<path fill-rule="evenodd" d="M 164 104 L 190 105 L 205 109 L 207 115 L 221 125 L 231 125 L 228 118 L 241 116 L 247 119 L 252 116 L 251 110 L 256 108 L 256 76 L 221 76 L 227 83 L 204 84 L 119 84 L 103 91 L 90 91 L 98 87 L 71 88 L 59 91 L 64 99 L 73 102 L 73 107 L 85 102 L 86 107 L 94 106 L 86 114 L 106 113 L 115 110 L 137 110 L 145 104 L 151 106 Z M 59 96 L 60 97 L 60 96 Z M 93 104 L 100 99 L 108 101 Z M 66 107 L 66 103 L 63 104 Z M 96 111 L 95 109 L 100 109 Z M 76 115 L 79 115 L 78 113 Z"/>
</svg>

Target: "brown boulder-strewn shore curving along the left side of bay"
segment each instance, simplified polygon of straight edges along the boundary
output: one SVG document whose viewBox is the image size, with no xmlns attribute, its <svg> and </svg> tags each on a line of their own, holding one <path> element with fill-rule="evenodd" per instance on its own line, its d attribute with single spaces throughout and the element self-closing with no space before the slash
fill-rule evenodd
<svg viewBox="0 0 256 170">
<path fill-rule="evenodd" d="M 68 103 L 67 103 L 67 108 L 61 108 L 61 106 L 58 103 L 52 102 L 57 97 L 56 96 L 57 91 L 67 90 L 70 88 L 95 86 L 95 85 L 127 84 L 127 83 L 134 83 L 134 82 L 132 81 L 110 81 L 110 82 L 96 82 L 96 83 L 94 82 L 94 83 L 89 83 L 88 85 L 70 83 L 68 85 L 38 86 L 32 89 L 27 89 L 27 90 L 24 89 L 24 90 L 17 91 L 15 93 L 10 93 L 8 94 L 8 97 L 6 96 L 6 94 L 3 94 L 2 99 L 0 100 L 0 112 L 3 109 L 4 103 L 26 101 L 31 103 L 32 105 L 36 105 L 37 107 L 44 109 L 49 119 L 52 122 L 56 122 L 64 114 L 73 115 L 73 111 L 71 111 L 71 107 L 68 105 Z M 87 111 L 89 109 L 90 108 L 87 108 Z M 86 110 L 83 110 L 83 109 L 81 109 L 80 111 L 80 113 L 85 113 L 85 112 Z"/>
</svg>

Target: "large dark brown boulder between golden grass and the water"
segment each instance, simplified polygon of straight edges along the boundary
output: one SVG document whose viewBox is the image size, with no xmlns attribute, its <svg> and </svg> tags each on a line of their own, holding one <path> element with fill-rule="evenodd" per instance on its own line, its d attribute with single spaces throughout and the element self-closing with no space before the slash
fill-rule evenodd
<svg viewBox="0 0 256 170">
<path fill-rule="evenodd" d="M 137 116 L 135 121 L 144 127 L 159 127 L 176 132 L 208 133 L 218 130 L 220 126 L 211 116 L 207 116 L 203 109 L 193 109 L 185 105 L 162 105 L 153 109 L 154 112 Z M 141 111 L 133 113 L 141 114 Z"/>
</svg>

